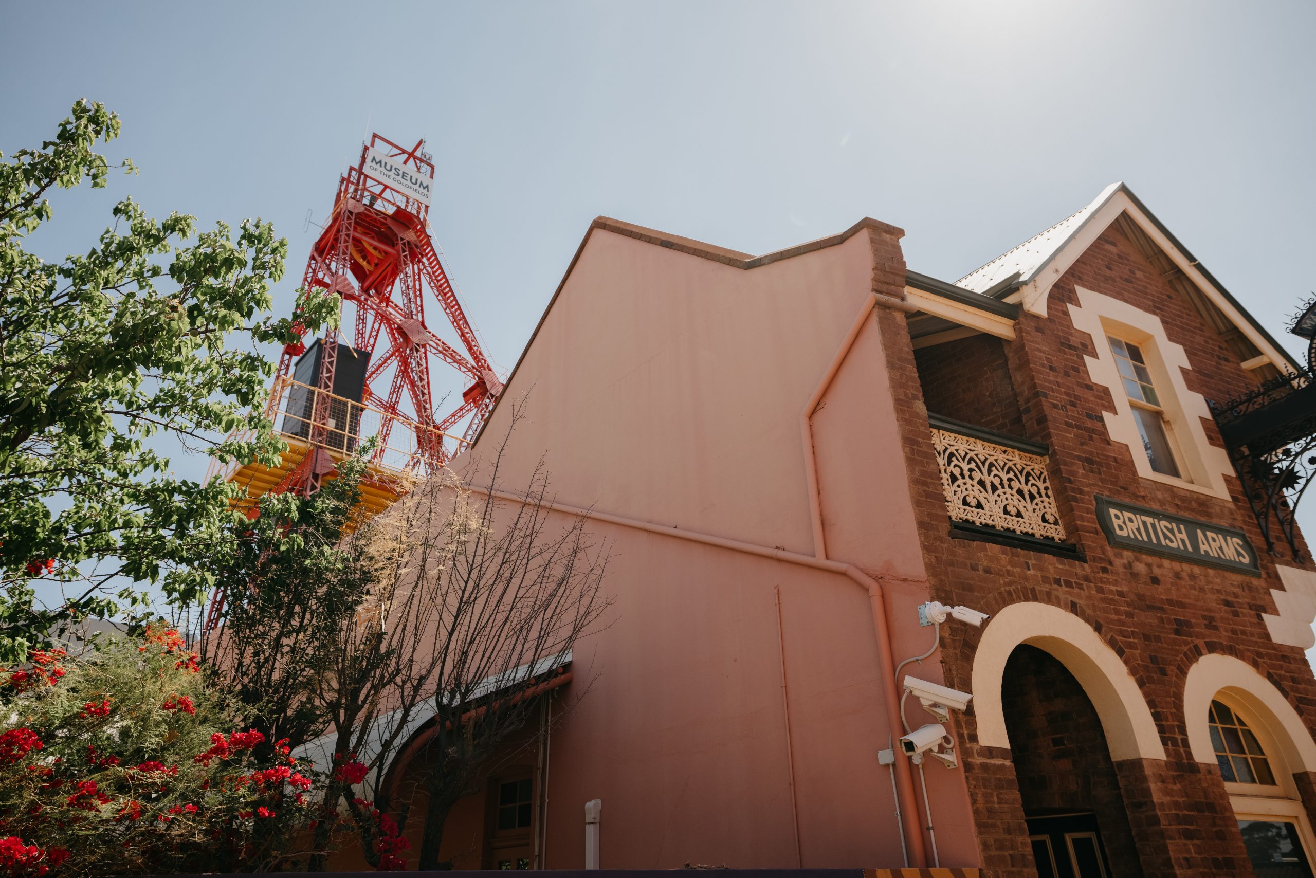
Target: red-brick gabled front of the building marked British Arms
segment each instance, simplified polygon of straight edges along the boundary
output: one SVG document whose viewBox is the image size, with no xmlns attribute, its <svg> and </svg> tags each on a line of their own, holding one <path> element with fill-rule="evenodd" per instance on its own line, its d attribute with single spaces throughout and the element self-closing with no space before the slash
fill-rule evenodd
<svg viewBox="0 0 1316 878">
<path fill-rule="evenodd" d="M 900 319 L 879 319 L 899 367 L 920 376 L 921 392 L 909 388 L 901 424 L 932 594 L 994 613 L 998 624 L 1029 606 L 1053 608 L 1040 620 L 1083 620 L 1136 682 L 1140 703 L 1134 717 L 1134 710 L 1115 707 L 1119 699 L 1095 694 L 1099 686 L 1082 669 L 1091 650 L 1078 658 L 1059 627 L 1020 641 L 1004 663 L 990 731 L 982 698 L 959 717 L 982 865 L 1001 875 L 1033 874 L 1019 840 L 1033 836 L 1032 853 L 1045 852 L 1055 841 L 1038 839 L 1048 825 L 1073 823 L 1048 815 L 1073 812 L 1094 815 L 1111 874 L 1249 874 L 1244 836 L 1273 828 L 1240 824 L 1250 819 L 1286 823 L 1309 858 L 1316 687 L 1303 649 L 1312 645 L 1311 554 L 1300 534 L 1290 545 L 1274 523 L 1267 541 L 1203 405 L 1254 391 L 1273 369 L 1296 365 L 1277 357 L 1278 345 L 1124 187 L 958 286 L 991 295 L 1013 271 L 1021 276 L 1007 290 L 1021 288 L 996 294 L 1021 305 L 1012 341 L 978 334 L 924 346 L 915 338 L 905 353 Z M 1129 351 L 1146 361 L 1145 370 L 1123 355 Z M 1140 386 L 1125 387 L 1125 374 Z M 1144 401 L 1148 383 L 1158 399 Z M 948 532 L 936 452 L 917 441 L 926 430 L 923 412 L 1045 444 L 1073 554 Z M 1165 433 L 1136 432 L 1140 412 Z M 1169 454 L 1165 466 L 1157 466 L 1157 453 Z M 1212 558 L 1202 552 L 1184 561 L 1112 545 L 1098 498 L 1236 528 L 1254 549 L 1259 575 L 1207 566 Z M 948 628 L 949 684 L 986 684 L 979 653 L 991 632 Z M 1086 673 L 1095 678 L 1094 669 Z M 1223 741 L 1234 742 L 1234 720 L 1211 712 L 1221 704 L 1250 727 L 1269 767 L 1245 777 L 1237 758 L 1211 758 Z M 1119 728 L 1138 721 L 1145 736 Z M 1227 763 L 1234 777 L 1221 773 Z M 1063 856 L 1058 844 L 1051 848 Z"/>
</svg>

